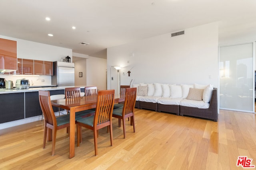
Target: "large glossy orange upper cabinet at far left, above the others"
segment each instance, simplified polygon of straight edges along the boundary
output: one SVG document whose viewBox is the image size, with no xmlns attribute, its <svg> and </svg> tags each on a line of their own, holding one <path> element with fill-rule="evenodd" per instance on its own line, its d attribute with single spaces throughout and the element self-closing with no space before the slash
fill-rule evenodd
<svg viewBox="0 0 256 170">
<path fill-rule="evenodd" d="M 0 38 L 0 70 L 17 70 L 17 41 Z"/>
</svg>

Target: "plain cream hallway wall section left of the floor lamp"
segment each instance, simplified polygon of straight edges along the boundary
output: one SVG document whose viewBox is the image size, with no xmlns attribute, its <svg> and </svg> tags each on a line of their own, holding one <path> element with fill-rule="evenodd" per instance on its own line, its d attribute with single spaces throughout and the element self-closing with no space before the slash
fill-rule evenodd
<svg viewBox="0 0 256 170">
<path fill-rule="evenodd" d="M 107 60 L 89 56 L 86 59 L 86 85 L 97 86 L 98 90 L 106 90 Z"/>
</svg>

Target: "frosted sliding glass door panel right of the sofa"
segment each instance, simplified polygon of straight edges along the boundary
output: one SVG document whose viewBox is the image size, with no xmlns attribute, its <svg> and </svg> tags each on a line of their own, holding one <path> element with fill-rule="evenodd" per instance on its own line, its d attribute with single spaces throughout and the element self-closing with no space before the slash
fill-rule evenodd
<svg viewBox="0 0 256 170">
<path fill-rule="evenodd" d="M 254 43 L 219 47 L 220 109 L 254 112 Z"/>
</svg>

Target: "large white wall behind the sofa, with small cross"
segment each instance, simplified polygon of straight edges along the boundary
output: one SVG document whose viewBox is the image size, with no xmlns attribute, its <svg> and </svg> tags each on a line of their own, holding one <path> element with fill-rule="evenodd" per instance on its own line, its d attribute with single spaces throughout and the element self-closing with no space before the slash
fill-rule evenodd
<svg viewBox="0 0 256 170">
<path fill-rule="evenodd" d="M 107 66 L 122 66 L 121 85 L 213 84 L 218 87 L 218 23 L 185 29 L 107 49 Z M 130 77 L 128 70 L 131 71 Z M 108 88 L 111 81 L 108 72 Z"/>
</svg>

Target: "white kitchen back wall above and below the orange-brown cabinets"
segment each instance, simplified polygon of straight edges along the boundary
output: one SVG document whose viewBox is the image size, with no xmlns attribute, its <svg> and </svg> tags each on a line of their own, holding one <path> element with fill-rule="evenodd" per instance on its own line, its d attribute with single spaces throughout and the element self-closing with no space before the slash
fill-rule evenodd
<svg viewBox="0 0 256 170">
<path fill-rule="evenodd" d="M 26 41 L 23 39 L 17 39 L 12 37 L 6 37 L 0 35 L 0 38 L 10 39 L 17 41 L 17 57 L 22 59 L 34 59 L 42 61 L 61 61 L 61 58 L 69 56 L 72 61 L 72 49 L 66 49 L 62 47 L 56 47 L 53 45 L 47 45 L 42 43 L 36 43 L 32 41 Z M 1 78 L 6 80 L 12 80 L 15 82 L 17 79 L 26 78 L 30 80 L 30 86 L 45 86 L 51 85 L 51 76 L 13 76 L 1 74 Z M 44 82 L 42 82 L 44 80 Z"/>
</svg>

